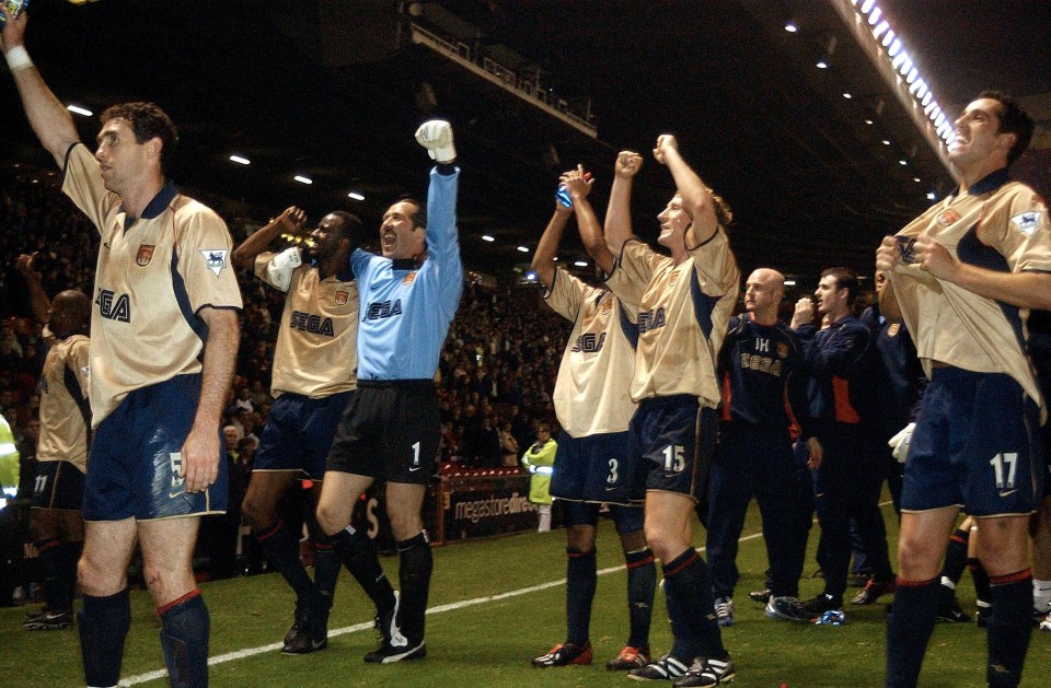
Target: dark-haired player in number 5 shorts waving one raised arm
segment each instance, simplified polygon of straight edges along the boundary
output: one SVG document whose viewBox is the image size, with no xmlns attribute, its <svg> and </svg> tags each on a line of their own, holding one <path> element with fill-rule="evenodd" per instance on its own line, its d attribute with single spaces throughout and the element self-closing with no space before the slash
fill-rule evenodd
<svg viewBox="0 0 1051 688">
<path fill-rule="evenodd" d="M 208 609 L 194 580 L 200 515 L 227 503 L 219 420 L 238 348 L 241 294 L 222 219 L 166 176 L 175 127 L 150 103 L 102 115 L 92 155 L 8 16 L 3 53 L 62 190 L 99 229 L 91 318 L 95 436 L 84 485 L 78 616 L 89 686 L 115 686 L 130 626 L 136 541 L 173 686 L 208 683 Z"/>
</svg>

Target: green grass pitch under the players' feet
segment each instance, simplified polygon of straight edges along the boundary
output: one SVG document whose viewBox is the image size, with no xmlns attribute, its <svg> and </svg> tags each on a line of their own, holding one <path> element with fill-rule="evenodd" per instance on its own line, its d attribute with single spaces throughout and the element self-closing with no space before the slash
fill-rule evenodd
<svg viewBox="0 0 1051 688">
<path fill-rule="evenodd" d="M 897 535 L 890 506 L 887 526 Z M 847 622 L 841 627 L 808 626 L 771 620 L 747 593 L 763 586 L 766 556 L 758 511 L 749 511 L 738 556 L 741 580 L 735 595 L 737 625 L 723 629 L 741 688 L 880 686 L 883 667 L 885 613 L 890 596 L 868 607 L 847 602 Z M 811 530 L 807 573 L 816 568 L 813 550 L 819 530 Z M 751 536 L 751 537 L 750 537 Z M 703 545 L 696 526 L 694 540 Z M 336 592 L 330 629 L 368 625 L 369 628 L 331 637 L 328 649 L 311 655 L 286 656 L 276 649 L 211 666 L 215 687 L 251 686 L 627 686 L 623 674 L 604 668 L 627 637 L 623 556 L 612 524 L 602 522 L 598 541 L 599 569 L 616 571 L 599 576 L 591 643 L 591 666 L 535 669 L 530 660 L 565 639 L 565 534 L 555 530 L 462 543 L 435 549 L 430 607 L 477 600 L 427 618 L 428 657 L 395 665 L 363 664 L 373 650 L 373 610 L 354 579 L 344 571 Z M 397 585 L 396 558 L 383 558 Z M 498 597 L 523 588 L 556 583 L 541 590 Z M 801 594 L 821 592 L 820 580 L 804 579 Z M 201 587 L 211 615 L 210 656 L 279 643 L 291 623 L 292 596 L 277 574 L 206 583 Z M 854 588 L 847 591 L 854 594 Z M 974 594 L 965 573 L 958 590 L 965 610 L 973 611 Z M 490 597 L 490 599 L 482 599 Z M 495 598 L 492 598 L 495 597 Z M 78 603 L 79 607 L 79 603 Z M 0 686 L 83 685 L 77 632 L 22 630 L 31 607 L 0 609 Z M 163 669 L 158 644 L 160 621 L 149 594 L 131 595 L 122 685 L 127 679 Z M 650 644 L 657 654 L 670 646 L 663 597 L 654 609 Z M 939 623 L 921 675 L 921 686 L 963 688 L 984 686 L 985 635 L 973 623 Z M 1051 633 L 1033 631 L 1023 686 L 1046 686 L 1051 669 Z M 135 685 L 166 686 L 166 675 Z M 669 685 L 655 684 L 655 685 Z"/>
</svg>

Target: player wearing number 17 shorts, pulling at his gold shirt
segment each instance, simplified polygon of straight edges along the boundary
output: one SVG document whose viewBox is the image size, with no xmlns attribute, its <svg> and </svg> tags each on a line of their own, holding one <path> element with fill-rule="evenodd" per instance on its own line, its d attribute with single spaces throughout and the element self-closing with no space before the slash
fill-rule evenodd
<svg viewBox="0 0 1051 688">
<path fill-rule="evenodd" d="M 978 558 L 993 597 L 990 686 L 1017 686 L 1032 628 L 1027 527 L 1040 503 L 1040 389 L 1026 357 L 1026 308 L 1051 307 L 1051 234 L 1043 200 L 1010 182 L 1032 119 L 988 91 L 956 120 L 949 162 L 959 191 L 885 237 L 890 279 L 931 382 L 901 494 L 901 573 L 887 621 L 887 680 L 915 686 L 938 606 L 938 571 L 960 506 L 978 518 Z"/>
</svg>

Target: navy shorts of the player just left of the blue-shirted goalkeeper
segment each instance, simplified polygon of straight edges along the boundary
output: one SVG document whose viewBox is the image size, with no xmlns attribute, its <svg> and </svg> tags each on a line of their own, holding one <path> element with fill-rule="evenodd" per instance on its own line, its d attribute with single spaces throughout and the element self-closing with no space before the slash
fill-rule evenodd
<svg viewBox="0 0 1051 688">
<path fill-rule="evenodd" d="M 323 479 L 332 439 L 351 394 L 311 399 L 285 393 L 274 399 L 252 470 L 302 470 L 314 480 Z"/>
</svg>

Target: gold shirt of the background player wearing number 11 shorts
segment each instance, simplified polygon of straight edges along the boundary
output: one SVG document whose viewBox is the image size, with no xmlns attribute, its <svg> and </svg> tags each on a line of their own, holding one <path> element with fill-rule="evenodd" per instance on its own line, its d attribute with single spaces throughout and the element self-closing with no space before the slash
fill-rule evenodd
<svg viewBox="0 0 1051 688">
<path fill-rule="evenodd" d="M 51 345 L 41 375 L 39 462 L 67 460 L 81 473 L 88 468 L 91 411 L 88 401 L 90 365 L 88 337 L 71 335 Z"/>
</svg>

